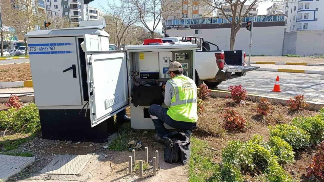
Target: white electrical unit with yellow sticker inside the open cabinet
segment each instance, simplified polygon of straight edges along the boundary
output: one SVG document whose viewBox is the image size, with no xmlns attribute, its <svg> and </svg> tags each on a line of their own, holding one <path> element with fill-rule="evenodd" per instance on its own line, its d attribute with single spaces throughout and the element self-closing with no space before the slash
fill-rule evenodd
<svg viewBox="0 0 324 182">
<path fill-rule="evenodd" d="M 159 53 L 139 52 L 139 72 L 142 79 L 159 78 Z"/>
</svg>

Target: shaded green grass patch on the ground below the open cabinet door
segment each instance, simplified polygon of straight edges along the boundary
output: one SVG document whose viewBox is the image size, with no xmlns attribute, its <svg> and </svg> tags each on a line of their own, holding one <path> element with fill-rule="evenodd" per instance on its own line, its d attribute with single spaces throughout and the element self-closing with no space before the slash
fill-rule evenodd
<svg viewBox="0 0 324 182">
<path fill-rule="evenodd" d="M 128 142 L 134 140 L 138 141 L 138 137 L 133 132 L 130 123 L 121 125 L 121 128 L 117 132 L 117 136 L 112 139 L 111 144 L 108 146 L 113 151 L 128 151 Z"/>
</svg>

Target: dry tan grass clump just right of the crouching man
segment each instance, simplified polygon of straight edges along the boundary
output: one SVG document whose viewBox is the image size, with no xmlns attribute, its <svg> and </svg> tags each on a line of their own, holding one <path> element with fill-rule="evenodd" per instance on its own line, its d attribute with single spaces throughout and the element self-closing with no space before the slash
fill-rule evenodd
<svg viewBox="0 0 324 182">
<path fill-rule="evenodd" d="M 198 115 L 197 130 L 214 137 L 223 137 L 226 133 L 219 121 L 205 113 Z"/>
</svg>

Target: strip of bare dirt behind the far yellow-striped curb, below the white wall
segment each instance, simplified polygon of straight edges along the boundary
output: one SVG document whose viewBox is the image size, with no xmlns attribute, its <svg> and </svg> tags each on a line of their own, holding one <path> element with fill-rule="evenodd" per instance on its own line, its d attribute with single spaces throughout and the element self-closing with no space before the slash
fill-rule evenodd
<svg viewBox="0 0 324 182">
<path fill-rule="evenodd" d="M 324 64 L 324 58 L 286 57 L 286 56 L 252 56 L 251 61 L 323 63 Z"/>
</svg>

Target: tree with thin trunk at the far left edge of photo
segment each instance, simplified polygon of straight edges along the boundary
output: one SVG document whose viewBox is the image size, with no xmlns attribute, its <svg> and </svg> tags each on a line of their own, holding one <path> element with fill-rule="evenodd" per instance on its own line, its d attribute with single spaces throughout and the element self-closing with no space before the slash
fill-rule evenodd
<svg viewBox="0 0 324 182">
<path fill-rule="evenodd" d="M 15 18 L 17 18 L 16 11 L 13 9 L 11 0 L 1 0 L 0 1 L 1 16 L 3 28 L 0 30 L 1 37 L 1 56 L 3 56 L 3 41 L 8 39 L 8 34 L 12 34 L 12 29 L 15 28 L 14 23 Z"/>
</svg>

